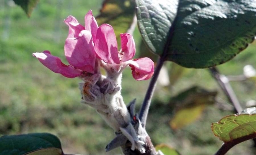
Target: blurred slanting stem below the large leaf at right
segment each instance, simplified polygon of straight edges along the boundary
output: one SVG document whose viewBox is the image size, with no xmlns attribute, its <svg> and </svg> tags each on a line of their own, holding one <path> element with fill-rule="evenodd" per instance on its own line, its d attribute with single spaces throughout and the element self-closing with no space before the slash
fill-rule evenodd
<svg viewBox="0 0 256 155">
<path fill-rule="evenodd" d="M 228 97 L 228 100 L 232 103 L 232 105 L 235 107 L 235 112 L 241 112 L 243 110 L 241 104 L 239 103 L 237 96 L 235 95 L 235 92 L 233 91 L 228 78 L 225 75 L 221 75 L 217 68 L 209 68 L 211 75 L 214 77 L 214 79 L 218 82 L 223 92 Z"/>
</svg>

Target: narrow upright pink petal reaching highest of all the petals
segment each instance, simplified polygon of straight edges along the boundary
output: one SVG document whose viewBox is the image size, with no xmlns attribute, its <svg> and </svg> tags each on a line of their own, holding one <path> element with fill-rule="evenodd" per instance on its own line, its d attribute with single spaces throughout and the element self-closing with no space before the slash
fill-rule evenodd
<svg viewBox="0 0 256 155">
<path fill-rule="evenodd" d="M 92 10 L 89 10 L 85 15 L 85 30 L 92 33 L 92 40 L 95 42 L 97 29 L 99 28 L 96 19 L 92 15 Z"/>
</svg>

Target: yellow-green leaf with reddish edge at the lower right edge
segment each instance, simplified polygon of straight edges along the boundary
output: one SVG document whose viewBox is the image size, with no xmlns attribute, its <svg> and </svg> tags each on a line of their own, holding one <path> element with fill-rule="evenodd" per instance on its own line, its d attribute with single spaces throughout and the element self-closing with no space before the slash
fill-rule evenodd
<svg viewBox="0 0 256 155">
<path fill-rule="evenodd" d="M 247 108 L 237 115 L 228 115 L 211 125 L 213 134 L 225 143 L 236 143 L 256 137 L 256 108 Z"/>
</svg>

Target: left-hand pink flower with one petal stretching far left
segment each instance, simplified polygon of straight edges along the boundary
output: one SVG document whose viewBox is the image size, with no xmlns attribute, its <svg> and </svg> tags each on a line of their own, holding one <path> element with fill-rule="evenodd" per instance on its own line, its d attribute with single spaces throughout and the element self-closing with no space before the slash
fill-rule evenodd
<svg viewBox="0 0 256 155">
<path fill-rule="evenodd" d="M 85 27 L 80 25 L 73 16 L 68 16 L 64 21 L 69 26 L 69 35 L 66 39 L 64 51 L 70 65 L 52 56 L 49 51 L 33 53 L 38 60 L 55 73 L 65 77 L 74 78 L 80 76 L 83 71 L 95 73 L 96 55 L 94 51 L 93 38 L 96 37 L 98 28 L 95 18 L 90 10 L 85 15 Z"/>
</svg>

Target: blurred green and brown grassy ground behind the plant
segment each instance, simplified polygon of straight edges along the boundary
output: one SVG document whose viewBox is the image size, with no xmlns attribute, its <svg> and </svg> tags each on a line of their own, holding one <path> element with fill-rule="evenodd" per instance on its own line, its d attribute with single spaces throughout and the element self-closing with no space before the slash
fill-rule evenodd
<svg viewBox="0 0 256 155">
<path fill-rule="evenodd" d="M 119 148 L 105 153 L 105 146 L 115 134 L 94 109 L 80 103 L 80 80 L 55 74 L 32 56 L 33 52 L 49 50 L 67 64 L 64 42 L 68 27 L 64 19 L 72 15 L 84 25 L 88 10 L 97 16 L 101 7 L 102 0 L 40 0 L 28 19 L 12 0 L 0 1 L 0 136 L 49 132 L 59 137 L 66 154 L 121 154 Z M 151 57 L 137 28 L 133 35 L 136 57 Z M 234 59 L 218 66 L 220 73 L 243 75 L 244 66 L 256 68 L 255 51 L 256 44 L 252 43 Z M 211 123 L 234 114 L 232 106 L 208 69 L 187 69 L 171 62 L 166 63 L 166 68 L 170 73 L 160 75 L 147 121 L 153 144 L 166 143 L 182 155 L 214 154 L 222 141 L 211 132 Z M 134 80 L 127 68 L 122 82 L 126 104 L 136 98 L 139 110 L 148 83 L 149 80 Z M 243 108 L 255 105 L 255 78 L 231 85 Z M 191 103 L 183 104 L 187 97 Z M 182 117 L 175 120 L 180 109 Z M 170 124 L 170 120 L 182 123 Z M 252 141 L 247 141 L 227 154 L 253 155 L 256 152 L 252 146 Z"/>
</svg>

